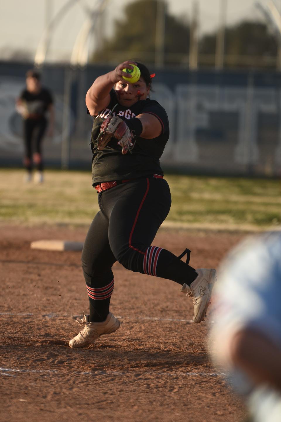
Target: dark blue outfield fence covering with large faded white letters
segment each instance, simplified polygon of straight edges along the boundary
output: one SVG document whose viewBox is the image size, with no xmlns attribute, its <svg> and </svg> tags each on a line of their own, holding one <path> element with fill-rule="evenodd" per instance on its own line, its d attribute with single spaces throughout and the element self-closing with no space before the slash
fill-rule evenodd
<svg viewBox="0 0 281 422">
<path fill-rule="evenodd" d="M 21 117 L 15 100 L 30 63 L 0 62 L 0 165 L 21 165 Z M 56 130 L 45 138 L 45 164 L 91 168 L 93 119 L 85 95 L 109 66 L 73 69 L 45 65 L 42 83 L 54 94 Z M 171 135 L 161 163 L 166 170 L 217 175 L 281 173 L 281 73 L 150 69 L 151 98 L 169 116 Z"/>
</svg>

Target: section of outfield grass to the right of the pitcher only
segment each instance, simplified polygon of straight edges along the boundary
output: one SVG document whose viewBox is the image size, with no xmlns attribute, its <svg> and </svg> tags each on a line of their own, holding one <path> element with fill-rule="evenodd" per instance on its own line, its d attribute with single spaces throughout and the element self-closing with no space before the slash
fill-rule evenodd
<svg viewBox="0 0 281 422">
<path fill-rule="evenodd" d="M 276 228 L 281 224 L 281 184 L 272 179 L 169 176 L 169 218 L 202 227 Z"/>
</svg>

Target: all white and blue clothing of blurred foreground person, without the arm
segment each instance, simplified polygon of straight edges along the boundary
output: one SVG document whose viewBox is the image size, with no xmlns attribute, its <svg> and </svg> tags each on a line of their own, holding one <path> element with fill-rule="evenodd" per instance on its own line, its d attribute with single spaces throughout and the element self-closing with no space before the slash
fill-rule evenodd
<svg viewBox="0 0 281 422">
<path fill-rule="evenodd" d="M 233 367 L 229 341 L 239 330 L 254 328 L 281 351 L 281 232 L 252 236 L 233 249 L 218 271 L 213 297 L 210 348 L 214 362 L 223 372 L 229 371 L 238 392 L 248 395 L 255 422 L 280 422 L 280 392 L 266 385 L 255 387 Z"/>
</svg>

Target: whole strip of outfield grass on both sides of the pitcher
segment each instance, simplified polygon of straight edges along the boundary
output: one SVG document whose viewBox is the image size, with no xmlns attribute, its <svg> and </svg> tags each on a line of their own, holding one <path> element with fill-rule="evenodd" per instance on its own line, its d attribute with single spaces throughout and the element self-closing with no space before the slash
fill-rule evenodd
<svg viewBox="0 0 281 422">
<path fill-rule="evenodd" d="M 24 170 L 0 169 L 0 221 L 88 225 L 98 211 L 90 172 L 46 170 L 42 185 Z M 272 179 L 166 176 L 172 206 L 166 224 L 229 230 L 281 225 L 281 184 Z"/>
</svg>

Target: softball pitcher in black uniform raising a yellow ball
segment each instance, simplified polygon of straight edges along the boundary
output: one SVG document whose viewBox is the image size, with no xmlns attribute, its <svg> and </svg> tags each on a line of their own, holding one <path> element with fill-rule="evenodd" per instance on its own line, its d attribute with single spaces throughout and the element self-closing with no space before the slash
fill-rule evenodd
<svg viewBox="0 0 281 422">
<path fill-rule="evenodd" d="M 133 70 L 130 63 L 140 70 L 134 83 L 123 79 L 130 78 L 123 72 Z M 164 108 L 149 98 L 153 76 L 141 63 L 123 62 L 99 76 L 86 95 L 94 116 L 92 181 L 100 211 L 82 252 L 90 314 L 83 312 L 83 329 L 70 340 L 70 347 L 88 346 L 119 328 L 109 311 L 116 261 L 131 271 L 178 283 L 193 300 L 196 323 L 203 321 L 209 305 L 216 271 L 195 270 L 189 259 L 185 263 L 166 249 L 150 246 L 171 206 L 159 162 L 169 138 L 169 121 Z"/>
</svg>

